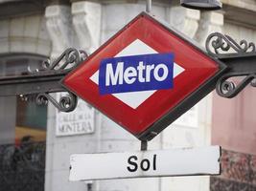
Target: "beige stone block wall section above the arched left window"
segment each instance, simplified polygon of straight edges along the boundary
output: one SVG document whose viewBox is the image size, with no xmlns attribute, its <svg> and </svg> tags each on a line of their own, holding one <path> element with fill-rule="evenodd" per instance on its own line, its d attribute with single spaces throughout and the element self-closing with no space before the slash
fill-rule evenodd
<svg viewBox="0 0 256 191">
<path fill-rule="evenodd" d="M 0 20 L 0 53 L 37 53 L 49 56 L 52 43 L 43 15 Z"/>
</svg>

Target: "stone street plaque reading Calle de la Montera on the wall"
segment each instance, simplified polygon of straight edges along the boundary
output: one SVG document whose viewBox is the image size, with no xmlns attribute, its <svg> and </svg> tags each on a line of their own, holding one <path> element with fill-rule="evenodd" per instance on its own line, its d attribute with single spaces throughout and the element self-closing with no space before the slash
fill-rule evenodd
<svg viewBox="0 0 256 191">
<path fill-rule="evenodd" d="M 57 94 L 57 99 L 64 95 Z M 89 107 L 81 99 L 75 111 L 70 113 L 59 112 L 56 110 L 56 135 L 75 136 L 91 134 L 94 132 L 94 109 Z"/>
</svg>

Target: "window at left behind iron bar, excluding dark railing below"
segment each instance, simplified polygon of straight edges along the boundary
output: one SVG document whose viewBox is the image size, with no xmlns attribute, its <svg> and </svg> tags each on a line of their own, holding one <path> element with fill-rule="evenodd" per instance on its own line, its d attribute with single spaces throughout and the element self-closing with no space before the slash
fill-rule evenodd
<svg viewBox="0 0 256 191">
<path fill-rule="evenodd" d="M 45 59 L 44 56 L 29 53 L 0 55 L 0 79 L 29 76 L 42 68 Z M 15 85 L 10 88 L 15 89 Z M 35 141 L 46 139 L 47 107 L 36 105 L 35 96 L 0 96 L 1 144 L 20 143 L 22 138 Z"/>
</svg>

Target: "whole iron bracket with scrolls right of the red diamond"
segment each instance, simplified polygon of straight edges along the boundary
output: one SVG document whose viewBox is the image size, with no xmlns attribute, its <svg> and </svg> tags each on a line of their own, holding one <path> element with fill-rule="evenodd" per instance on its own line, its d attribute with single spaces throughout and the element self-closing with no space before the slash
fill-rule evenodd
<svg viewBox="0 0 256 191">
<path fill-rule="evenodd" d="M 256 87 L 254 43 L 248 43 L 245 40 L 237 43 L 230 36 L 215 32 L 210 34 L 206 40 L 206 51 L 227 66 L 226 72 L 216 84 L 216 91 L 220 96 L 227 98 L 237 96 L 247 84 Z M 232 81 L 234 77 L 239 77 L 239 82 Z"/>
</svg>

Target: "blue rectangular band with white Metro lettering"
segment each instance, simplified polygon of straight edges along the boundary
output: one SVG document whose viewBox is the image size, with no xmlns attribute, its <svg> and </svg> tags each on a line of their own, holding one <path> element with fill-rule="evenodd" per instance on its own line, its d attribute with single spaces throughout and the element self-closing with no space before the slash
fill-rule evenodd
<svg viewBox="0 0 256 191">
<path fill-rule="evenodd" d="M 173 88 L 174 53 L 105 58 L 100 65 L 100 95 Z"/>
</svg>

